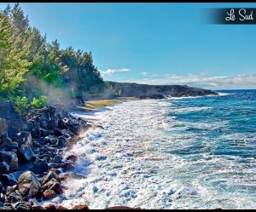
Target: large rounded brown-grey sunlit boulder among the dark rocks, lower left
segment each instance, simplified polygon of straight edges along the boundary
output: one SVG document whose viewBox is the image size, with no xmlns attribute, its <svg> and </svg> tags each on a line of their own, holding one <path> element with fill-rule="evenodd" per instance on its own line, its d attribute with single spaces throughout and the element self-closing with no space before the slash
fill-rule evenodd
<svg viewBox="0 0 256 212">
<path fill-rule="evenodd" d="M 26 171 L 20 175 L 18 180 L 19 191 L 22 196 L 34 198 L 40 190 L 40 182 L 32 171 Z"/>
</svg>

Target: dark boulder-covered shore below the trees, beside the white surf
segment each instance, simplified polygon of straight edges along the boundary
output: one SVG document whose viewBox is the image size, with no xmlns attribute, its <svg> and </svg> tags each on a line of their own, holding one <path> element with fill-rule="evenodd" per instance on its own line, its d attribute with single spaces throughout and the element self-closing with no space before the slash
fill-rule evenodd
<svg viewBox="0 0 256 212">
<path fill-rule="evenodd" d="M 61 106 L 45 106 L 20 116 L 15 103 L 0 101 L 0 209 L 67 209 L 47 203 L 65 197 L 61 181 L 78 156 L 64 153 L 92 127 Z M 75 205 L 71 209 L 89 209 Z M 115 206 L 108 209 L 132 209 Z"/>
</svg>

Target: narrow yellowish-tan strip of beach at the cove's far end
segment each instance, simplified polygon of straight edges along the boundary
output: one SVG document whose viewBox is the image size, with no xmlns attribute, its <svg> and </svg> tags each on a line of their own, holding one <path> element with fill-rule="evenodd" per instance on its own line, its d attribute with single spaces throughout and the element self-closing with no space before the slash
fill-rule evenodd
<svg viewBox="0 0 256 212">
<path fill-rule="evenodd" d="M 84 109 L 87 112 L 94 111 L 98 108 L 110 106 L 112 103 L 117 103 L 123 100 L 137 100 L 136 97 L 119 97 L 117 99 L 111 99 L 111 100 L 88 100 L 85 102 Z"/>
</svg>

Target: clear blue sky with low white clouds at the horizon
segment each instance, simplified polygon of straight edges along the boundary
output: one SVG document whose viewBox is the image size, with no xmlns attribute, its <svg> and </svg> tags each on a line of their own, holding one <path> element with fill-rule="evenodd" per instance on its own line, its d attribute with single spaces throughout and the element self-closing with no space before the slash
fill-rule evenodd
<svg viewBox="0 0 256 212">
<path fill-rule="evenodd" d="M 256 89 L 256 25 L 205 22 L 207 8 L 256 8 L 256 3 L 20 6 L 48 42 L 57 39 L 64 49 L 91 50 L 104 80 Z"/>
</svg>

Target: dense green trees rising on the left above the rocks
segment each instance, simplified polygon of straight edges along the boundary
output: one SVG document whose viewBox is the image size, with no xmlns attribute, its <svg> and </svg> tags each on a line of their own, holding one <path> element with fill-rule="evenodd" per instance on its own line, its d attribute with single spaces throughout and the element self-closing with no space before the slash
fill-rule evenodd
<svg viewBox="0 0 256 212">
<path fill-rule="evenodd" d="M 47 43 L 19 3 L 0 9 L 0 95 L 32 99 L 45 95 L 45 86 L 65 89 L 71 98 L 109 90 L 91 52 L 61 49 L 57 40 Z"/>
</svg>

